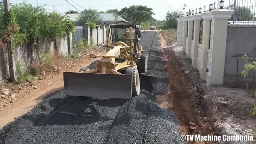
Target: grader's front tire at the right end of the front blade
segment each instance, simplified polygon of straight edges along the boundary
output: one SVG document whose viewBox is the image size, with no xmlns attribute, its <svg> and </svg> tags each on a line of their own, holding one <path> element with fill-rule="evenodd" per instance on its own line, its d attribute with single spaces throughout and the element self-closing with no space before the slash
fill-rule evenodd
<svg viewBox="0 0 256 144">
<path fill-rule="evenodd" d="M 128 68 L 125 74 L 132 75 L 132 97 L 140 95 L 140 77 L 137 68 Z"/>
</svg>

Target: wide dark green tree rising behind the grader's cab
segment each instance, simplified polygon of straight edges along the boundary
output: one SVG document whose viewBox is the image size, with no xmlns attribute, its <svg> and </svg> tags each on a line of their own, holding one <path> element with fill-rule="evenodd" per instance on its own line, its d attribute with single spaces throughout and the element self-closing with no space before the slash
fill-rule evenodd
<svg viewBox="0 0 256 144">
<path fill-rule="evenodd" d="M 141 22 L 146 22 L 151 20 L 152 15 L 155 15 L 152 8 L 147 8 L 147 6 L 130 6 L 129 8 L 122 8 L 119 11 L 119 15 L 125 20 L 131 21 L 132 23 L 140 24 Z"/>
</svg>

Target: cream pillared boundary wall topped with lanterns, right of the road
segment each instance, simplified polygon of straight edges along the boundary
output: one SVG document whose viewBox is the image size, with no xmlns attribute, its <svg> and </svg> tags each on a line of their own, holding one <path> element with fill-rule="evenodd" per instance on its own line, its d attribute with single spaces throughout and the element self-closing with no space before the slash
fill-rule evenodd
<svg viewBox="0 0 256 144">
<path fill-rule="evenodd" d="M 233 10 L 228 9 L 215 9 L 177 19 L 178 30 L 183 30 L 183 36 L 177 33 L 177 45 L 183 44 L 183 51 L 187 58 L 191 58 L 192 65 L 199 70 L 201 78 L 206 80 L 208 87 L 224 82 L 227 24 L 233 12 Z M 203 19 L 203 32 L 202 44 L 199 44 L 201 19 Z M 186 22 L 188 22 L 187 32 Z M 187 33 L 188 37 L 186 38 Z M 193 35 L 194 40 L 192 40 Z"/>
</svg>

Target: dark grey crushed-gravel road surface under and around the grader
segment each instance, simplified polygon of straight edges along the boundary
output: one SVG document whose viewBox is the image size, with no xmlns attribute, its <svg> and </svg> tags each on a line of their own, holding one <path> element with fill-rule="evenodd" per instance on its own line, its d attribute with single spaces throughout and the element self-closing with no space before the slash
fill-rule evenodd
<svg viewBox="0 0 256 144">
<path fill-rule="evenodd" d="M 132 99 L 67 97 L 57 91 L 1 129 L 0 144 L 183 144 L 178 119 L 155 101 L 168 89 L 158 32 L 143 31 L 141 45 L 147 45 L 148 73 L 158 76 L 158 87 L 141 82 L 140 96 Z"/>
</svg>

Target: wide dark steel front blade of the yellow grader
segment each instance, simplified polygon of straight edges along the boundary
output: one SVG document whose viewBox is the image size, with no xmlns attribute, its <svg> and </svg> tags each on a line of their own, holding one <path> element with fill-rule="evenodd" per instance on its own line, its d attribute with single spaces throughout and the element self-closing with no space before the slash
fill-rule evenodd
<svg viewBox="0 0 256 144">
<path fill-rule="evenodd" d="M 64 72 L 64 94 L 98 98 L 132 98 L 132 75 Z"/>
</svg>

